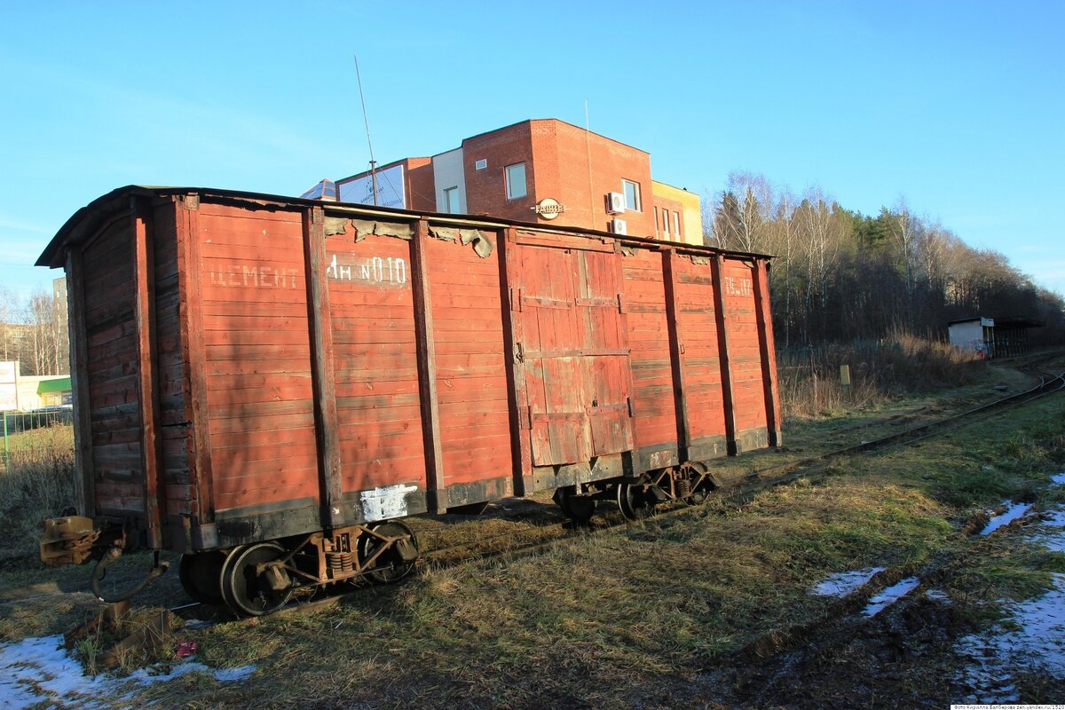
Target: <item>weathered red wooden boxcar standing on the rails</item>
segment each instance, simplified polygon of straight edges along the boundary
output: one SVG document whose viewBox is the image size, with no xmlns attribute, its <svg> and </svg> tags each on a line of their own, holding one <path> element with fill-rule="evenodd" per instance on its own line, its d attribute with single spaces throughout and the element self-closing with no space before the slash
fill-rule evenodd
<svg viewBox="0 0 1065 710">
<path fill-rule="evenodd" d="M 180 551 L 244 613 L 406 572 L 384 521 L 544 490 L 634 516 L 781 442 L 763 255 L 129 186 L 38 264 L 69 279 L 83 516 L 43 556 Z"/>
</svg>

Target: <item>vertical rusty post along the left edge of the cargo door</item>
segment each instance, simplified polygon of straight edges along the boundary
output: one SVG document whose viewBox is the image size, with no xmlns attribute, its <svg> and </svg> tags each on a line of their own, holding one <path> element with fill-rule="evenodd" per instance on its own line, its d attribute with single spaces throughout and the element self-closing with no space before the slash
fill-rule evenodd
<svg viewBox="0 0 1065 710">
<path fill-rule="evenodd" d="M 526 477 L 532 480 L 532 423 L 528 394 L 525 391 L 524 358 L 520 346 L 523 337 L 521 267 L 515 248 L 518 230 L 508 227 L 496 240 L 499 260 L 499 293 L 503 300 L 503 340 L 506 354 L 507 399 L 510 410 L 510 456 L 513 462 L 514 495 L 528 495 Z"/>
</svg>

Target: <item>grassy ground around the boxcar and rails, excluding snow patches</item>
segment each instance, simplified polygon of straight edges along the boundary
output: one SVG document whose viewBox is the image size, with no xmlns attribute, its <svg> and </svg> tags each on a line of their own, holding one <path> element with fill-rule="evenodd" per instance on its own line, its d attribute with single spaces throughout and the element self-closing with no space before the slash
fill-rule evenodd
<svg viewBox="0 0 1065 710">
<path fill-rule="evenodd" d="M 990 370 L 937 397 L 832 419 L 792 417 L 786 450 L 726 463 L 740 473 L 808 456 L 966 409 L 996 396 L 990 385 L 999 383 L 1016 391 L 1023 382 Z M 832 707 L 944 707 L 958 692 L 953 640 L 1001 618 L 1004 599 L 1039 594 L 1065 572 L 1060 552 L 969 534 L 1003 499 L 1061 501 L 1047 481 L 1065 467 L 1063 414 L 1061 399 L 1043 400 L 749 499 L 576 531 L 535 556 L 430 567 L 332 608 L 179 630 L 211 666 L 253 664 L 255 674 L 241 683 L 190 674 L 117 704 L 715 708 L 823 707 L 835 698 Z M 542 513 L 510 522 L 416 524 L 439 545 L 478 531 L 519 538 L 557 519 L 541 502 Z M 910 605 L 852 632 L 840 620 L 853 609 L 808 593 L 829 573 L 871 566 L 887 569 L 881 587 L 920 573 L 954 602 L 934 615 Z M 0 568 L 0 639 L 63 631 L 84 617 L 93 609 L 87 576 Z M 182 604 L 175 577 L 138 601 L 149 610 Z M 915 639 L 925 650 L 911 647 Z M 782 684 L 788 674 L 773 664 L 797 648 L 817 655 L 803 660 L 803 683 Z M 1018 684 L 1022 699 L 1065 700 L 1037 674 Z"/>
</svg>

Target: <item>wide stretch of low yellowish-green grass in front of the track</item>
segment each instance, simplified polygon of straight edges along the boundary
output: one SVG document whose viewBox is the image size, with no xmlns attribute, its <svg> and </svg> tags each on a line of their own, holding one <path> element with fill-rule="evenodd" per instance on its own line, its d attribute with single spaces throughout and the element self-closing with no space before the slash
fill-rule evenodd
<svg viewBox="0 0 1065 710">
<path fill-rule="evenodd" d="M 578 533 L 535 557 L 428 569 L 328 612 L 214 627 L 197 635 L 209 663 L 259 671 L 245 687 L 184 689 L 180 705 L 700 707 L 714 697 L 697 682 L 710 668 L 830 617 L 833 602 L 807 594 L 823 575 L 929 568 L 948 552 L 947 589 L 981 585 L 984 614 L 993 597 L 1044 589 L 1060 560 L 988 556 L 979 541 L 969 554 L 958 524 L 1060 465 L 1061 413 L 1045 403 L 1012 415 L 1015 431 L 987 423 L 741 506 Z M 988 457 L 994 476 L 973 482 Z M 965 566 L 982 559 L 980 575 Z M 1034 574 L 1028 563 L 1038 563 Z"/>
</svg>

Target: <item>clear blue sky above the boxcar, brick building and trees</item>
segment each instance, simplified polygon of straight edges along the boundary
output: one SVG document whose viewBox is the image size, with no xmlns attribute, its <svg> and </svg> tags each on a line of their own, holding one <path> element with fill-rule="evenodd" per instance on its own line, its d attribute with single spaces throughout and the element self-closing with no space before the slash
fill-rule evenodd
<svg viewBox="0 0 1065 710">
<path fill-rule="evenodd" d="M 4 2 L 0 285 L 114 187 L 298 195 L 525 118 L 709 193 L 904 197 L 1065 293 L 1065 3 Z"/>
</svg>

